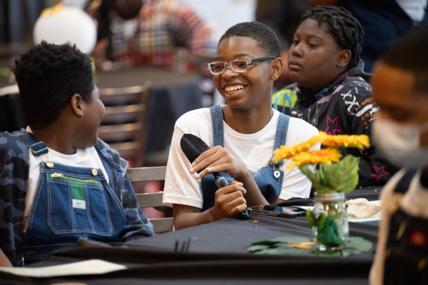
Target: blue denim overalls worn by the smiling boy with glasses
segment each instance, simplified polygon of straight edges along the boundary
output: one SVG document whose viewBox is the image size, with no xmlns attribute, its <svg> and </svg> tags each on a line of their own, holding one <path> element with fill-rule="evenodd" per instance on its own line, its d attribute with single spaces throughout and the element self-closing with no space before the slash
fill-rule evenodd
<svg viewBox="0 0 428 285">
<path fill-rule="evenodd" d="M 213 145 L 224 147 L 224 130 L 223 130 L 223 112 L 220 105 L 210 107 L 211 120 L 213 121 Z M 273 150 L 279 148 L 286 142 L 286 135 L 289 128 L 290 117 L 280 113 L 278 118 L 278 126 L 275 132 L 275 142 Z M 268 202 L 274 201 L 280 196 L 282 189 L 282 181 L 284 179 L 284 171 L 280 170 L 283 161 L 278 164 L 273 164 L 272 157 L 269 159 L 270 165 L 264 166 L 253 175 L 255 183 L 259 186 L 260 192 Z M 226 180 L 230 183 L 233 178 L 226 172 L 221 172 Z M 208 210 L 214 206 L 215 202 L 215 179 L 213 175 L 207 175 L 202 178 L 202 211 Z"/>
</svg>

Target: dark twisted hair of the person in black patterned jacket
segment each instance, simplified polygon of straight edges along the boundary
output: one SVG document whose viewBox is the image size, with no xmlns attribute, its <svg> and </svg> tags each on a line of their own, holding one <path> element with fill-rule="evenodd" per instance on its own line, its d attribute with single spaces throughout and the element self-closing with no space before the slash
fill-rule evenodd
<svg viewBox="0 0 428 285">
<path fill-rule="evenodd" d="M 318 25 L 327 28 L 327 32 L 339 48 L 351 50 L 349 68 L 358 64 L 361 57 L 361 41 L 364 37 L 360 22 L 351 12 L 340 6 L 315 6 L 300 17 L 300 23 L 306 19 L 318 21 Z"/>
</svg>

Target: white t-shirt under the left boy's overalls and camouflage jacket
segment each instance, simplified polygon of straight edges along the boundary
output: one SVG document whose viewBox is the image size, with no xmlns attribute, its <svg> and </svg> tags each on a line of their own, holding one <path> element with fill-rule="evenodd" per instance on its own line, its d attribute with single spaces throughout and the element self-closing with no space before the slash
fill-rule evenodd
<svg viewBox="0 0 428 285">
<path fill-rule="evenodd" d="M 26 210 L 24 212 L 24 231 L 26 230 L 28 217 L 30 216 L 31 207 L 35 199 L 37 186 L 39 185 L 40 164 L 42 161 L 47 161 L 47 159 L 52 161 L 54 164 L 96 168 L 97 170 L 101 170 L 108 183 L 106 169 L 104 168 L 94 146 L 89 148 L 77 148 L 74 155 L 64 155 L 50 148 L 48 148 L 48 156 L 40 155 L 39 157 L 35 157 L 35 155 L 30 152 L 30 175 L 28 177 L 28 193 L 26 197 Z"/>
</svg>

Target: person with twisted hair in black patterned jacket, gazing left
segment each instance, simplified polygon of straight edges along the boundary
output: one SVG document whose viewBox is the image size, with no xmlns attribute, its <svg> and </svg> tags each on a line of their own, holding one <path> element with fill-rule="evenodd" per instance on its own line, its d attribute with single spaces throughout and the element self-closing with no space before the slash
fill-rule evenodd
<svg viewBox="0 0 428 285">
<path fill-rule="evenodd" d="M 288 57 L 295 83 L 273 94 L 273 107 L 329 135 L 370 135 L 379 108 L 360 59 L 362 37 L 360 23 L 344 8 L 316 6 L 305 12 Z M 360 157 L 358 188 L 382 186 L 398 170 L 373 146 L 342 153 Z"/>
</svg>

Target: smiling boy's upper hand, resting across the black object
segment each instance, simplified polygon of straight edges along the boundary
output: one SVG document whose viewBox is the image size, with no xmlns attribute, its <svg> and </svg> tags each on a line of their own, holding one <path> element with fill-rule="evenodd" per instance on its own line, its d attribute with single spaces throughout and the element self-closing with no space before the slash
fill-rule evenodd
<svg viewBox="0 0 428 285">
<path fill-rule="evenodd" d="M 198 173 L 200 170 L 202 171 Z M 190 170 L 191 173 L 198 173 L 195 176 L 197 179 L 220 171 L 227 172 L 228 175 L 238 181 L 240 177 L 248 174 L 246 166 L 221 146 L 214 146 L 202 153 L 193 161 Z"/>
</svg>

